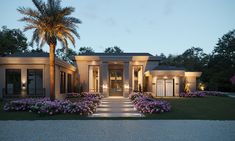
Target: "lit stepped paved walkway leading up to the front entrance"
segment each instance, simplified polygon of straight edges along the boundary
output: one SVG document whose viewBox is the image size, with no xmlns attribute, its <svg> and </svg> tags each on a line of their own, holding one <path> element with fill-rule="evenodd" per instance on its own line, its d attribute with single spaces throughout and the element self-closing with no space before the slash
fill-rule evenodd
<svg viewBox="0 0 235 141">
<path fill-rule="evenodd" d="M 141 117 L 143 116 L 134 109 L 128 98 L 108 97 L 103 98 L 101 104 L 92 117 Z"/>
</svg>

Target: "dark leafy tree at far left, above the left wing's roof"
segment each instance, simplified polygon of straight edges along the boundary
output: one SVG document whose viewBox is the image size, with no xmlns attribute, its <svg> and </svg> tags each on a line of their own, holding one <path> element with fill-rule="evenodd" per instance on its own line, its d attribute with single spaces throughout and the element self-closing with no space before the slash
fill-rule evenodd
<svg viewBox="0 0 235 141">
<path fill-rule="evenodd" d="M 0 30 L 0 56 L 27 51 L 27 38 L 19 29 Z"/>
</svg>

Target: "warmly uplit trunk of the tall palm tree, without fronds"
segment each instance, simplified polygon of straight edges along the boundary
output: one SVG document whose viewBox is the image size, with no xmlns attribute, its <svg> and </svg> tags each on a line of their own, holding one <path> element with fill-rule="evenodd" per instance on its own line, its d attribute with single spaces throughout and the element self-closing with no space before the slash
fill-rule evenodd
<svg viewBox="0 0 235 141">
<path fill-rule="evenodd" d="M 50 100 L 55 100 L 55 44 L 50 43 Z"/>
</svg>

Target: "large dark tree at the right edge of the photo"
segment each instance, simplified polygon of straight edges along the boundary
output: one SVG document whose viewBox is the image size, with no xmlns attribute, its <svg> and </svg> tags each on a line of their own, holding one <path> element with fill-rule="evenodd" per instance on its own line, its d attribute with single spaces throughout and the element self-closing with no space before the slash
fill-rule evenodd
<svg viewBox="0 0 235 141">
<path fill-rule="evenodd" d="M 234 86 L 230 78 L 235 70 L 235 30 L 229 31 L 216 44 L 205 75 L 208 76 L 210 87 L 220 91 L 232 91 Z"/>
</svg>

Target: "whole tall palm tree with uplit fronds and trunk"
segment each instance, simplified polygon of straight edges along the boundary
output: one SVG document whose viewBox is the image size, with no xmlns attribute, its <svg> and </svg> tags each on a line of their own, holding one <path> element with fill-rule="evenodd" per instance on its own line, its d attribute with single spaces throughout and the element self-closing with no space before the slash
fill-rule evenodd
<svg viewBox="0 0 235 141">
<path fill-rule="evenodd" d="M 20 7 L 17 10 L 24 15 L 20 21 L 26 22 L 24 31 L 34 30 L 31 44 L 40 48 L 47 43 L 50 48 L 50 99 L 55 99 L 55 49 L 57 41 L 64 49 L 68 48 L 68 40 L 75 46 L 75 35 L 79 39 L 77 24 L 81 21 L 70 17 L 73 7 L 61 7 L 61 0 L 32 0 L 36 9 Z"/>
</svg>

